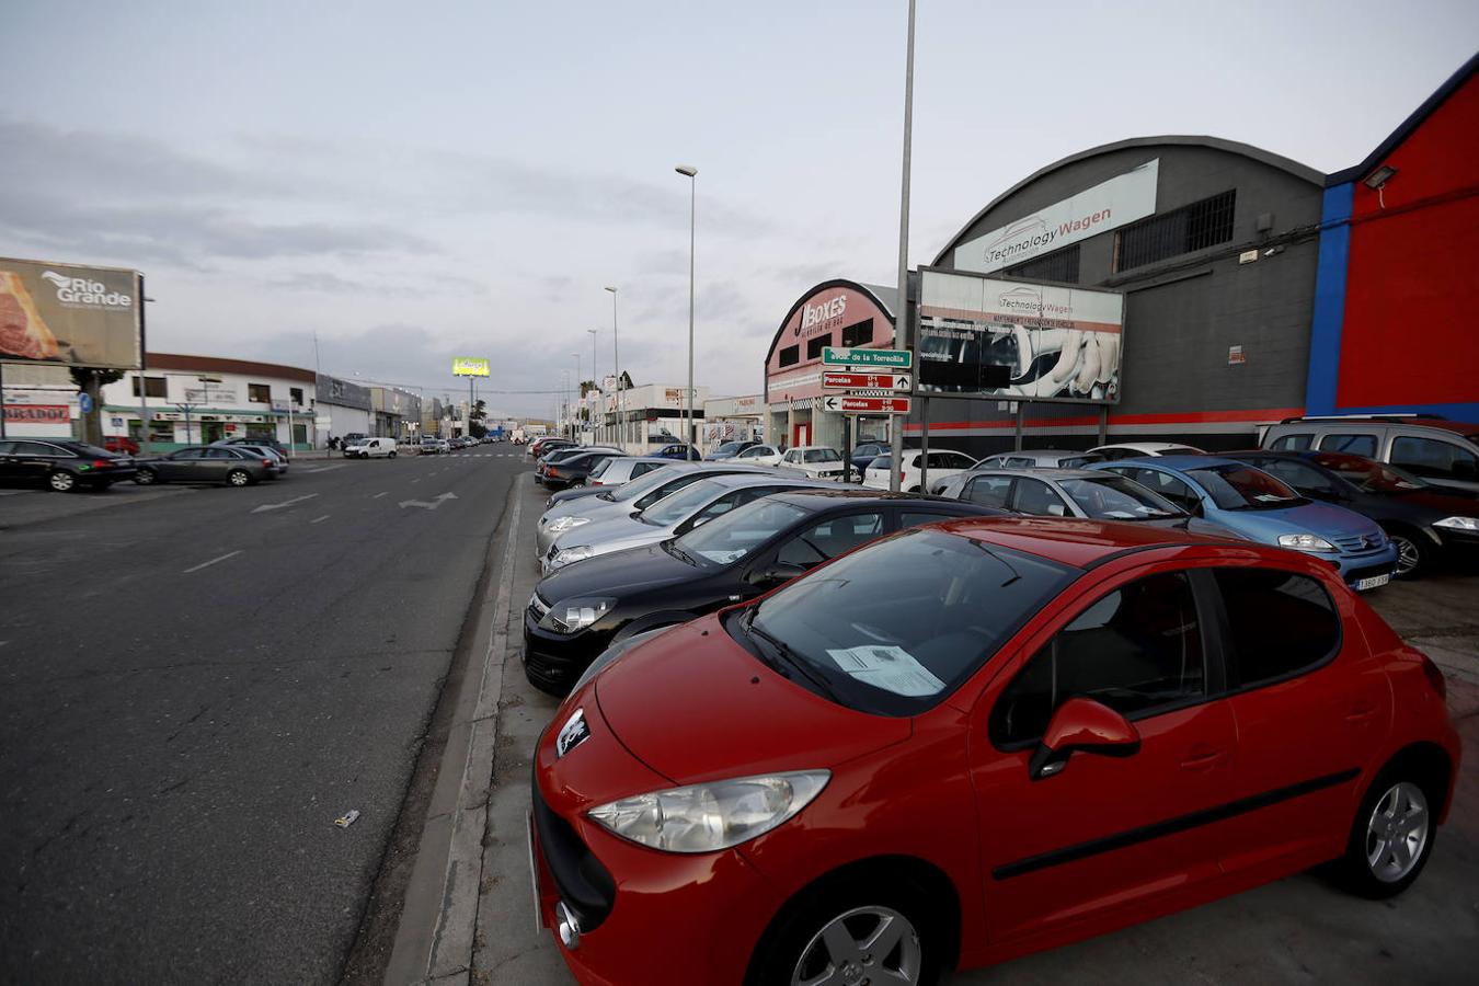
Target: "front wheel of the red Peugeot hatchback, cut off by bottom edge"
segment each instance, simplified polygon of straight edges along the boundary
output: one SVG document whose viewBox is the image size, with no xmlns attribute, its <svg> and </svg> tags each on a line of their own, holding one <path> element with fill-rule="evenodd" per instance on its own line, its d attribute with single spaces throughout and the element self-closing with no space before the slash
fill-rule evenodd
<svg viewBox="0 0 1479 986">
<path fill-rule="evenodd" d="M 803 893 L 760 940 L 747 983 L 939 982 L 942 936 L 923 894 L 867 877 Z"/>
</svg>

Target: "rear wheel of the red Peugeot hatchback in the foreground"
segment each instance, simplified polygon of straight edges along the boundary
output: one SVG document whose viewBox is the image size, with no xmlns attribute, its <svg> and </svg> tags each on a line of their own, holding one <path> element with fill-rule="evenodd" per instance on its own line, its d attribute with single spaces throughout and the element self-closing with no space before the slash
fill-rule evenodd
<svg viewBox="0 0 1479 986">
<path fill-rule="evenodd" d="M 1411 769 L 1383 770 L 1361 800 L 1334 874 L 1350 893 L 1381 900 L 1417 880 L 1438 837 L 1436 797 Z"/>
</svg>

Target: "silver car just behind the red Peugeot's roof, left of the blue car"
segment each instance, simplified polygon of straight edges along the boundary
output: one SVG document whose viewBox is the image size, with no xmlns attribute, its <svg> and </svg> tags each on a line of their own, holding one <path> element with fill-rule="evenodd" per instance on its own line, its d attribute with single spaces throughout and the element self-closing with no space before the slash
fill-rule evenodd
<svg viewBox="0 0 1479 986">
<path fill-rule="evenodd" d="M 1105 480 L 1105 476 L 1114 479 Z M 1130 520 L 1245 541 L 1213 520 L 1194 517 L 1133 479 L 1093 469 L 989 469 L 945 480 L 945 497 L 1040 517 Z"/>
</svg>

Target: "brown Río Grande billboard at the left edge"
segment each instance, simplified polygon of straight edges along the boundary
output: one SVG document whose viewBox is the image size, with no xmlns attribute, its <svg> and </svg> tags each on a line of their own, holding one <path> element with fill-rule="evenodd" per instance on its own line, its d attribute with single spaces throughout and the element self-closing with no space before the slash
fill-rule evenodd
<svg viewBox="0 0 1479 986">
<path fill-rule="evenodd" d="M 138 271 L 0 257 L 0 359 L 138 370 Z"/>
</svg>

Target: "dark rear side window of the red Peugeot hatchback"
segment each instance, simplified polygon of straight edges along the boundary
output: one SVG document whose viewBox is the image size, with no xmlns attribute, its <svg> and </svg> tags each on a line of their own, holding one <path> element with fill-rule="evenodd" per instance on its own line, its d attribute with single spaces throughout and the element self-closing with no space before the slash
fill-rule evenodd
<svg viewBox="0 0 1479 986">
<path fill-rule="evenodd" d="M 1330 593 L 1307 575 L 1238 568 L 1213 572 L 1228 613 L 1229 687 L 1256 687 L 1309 671 L 1340 649 Z"/>
</svg>

